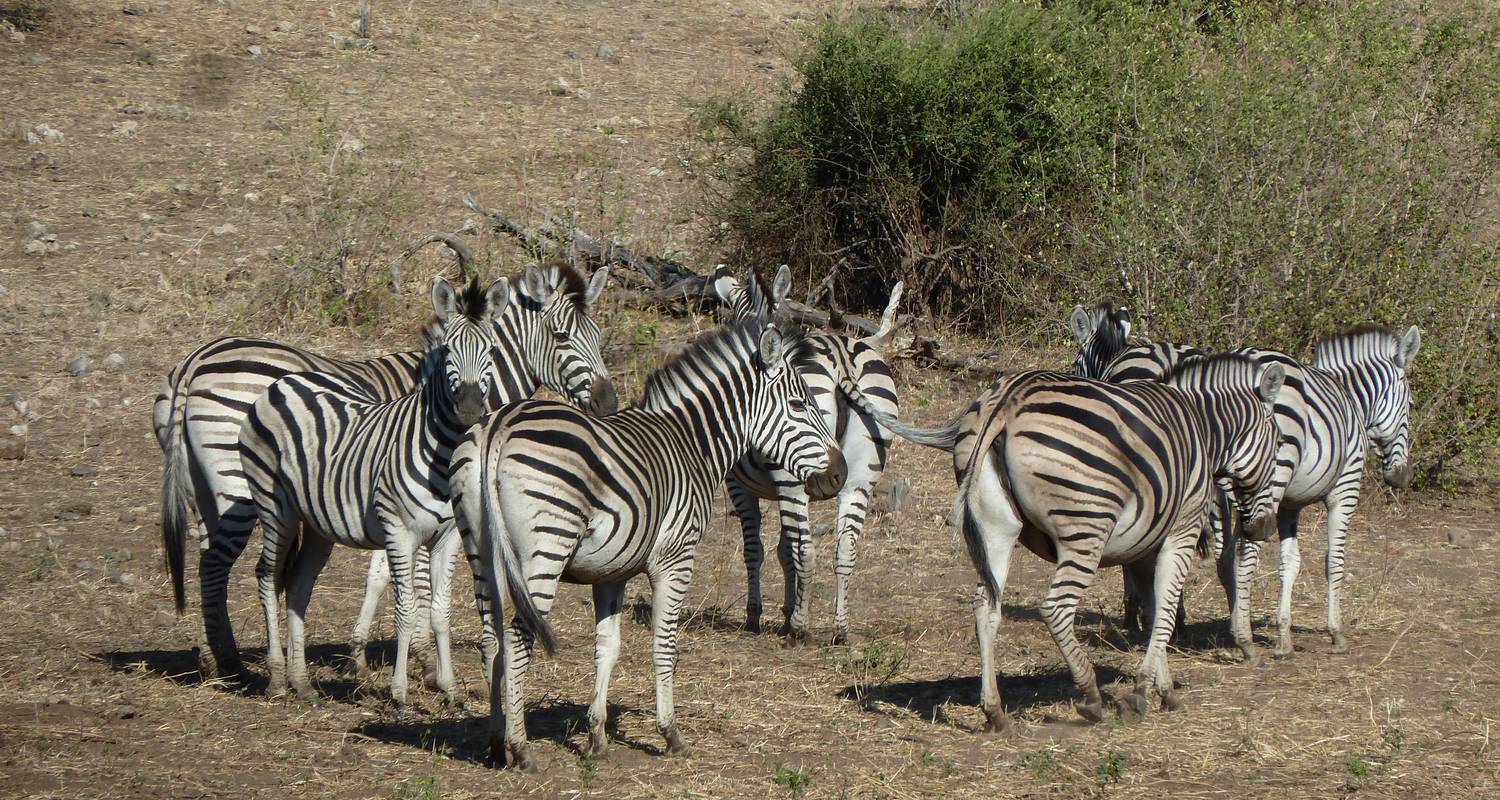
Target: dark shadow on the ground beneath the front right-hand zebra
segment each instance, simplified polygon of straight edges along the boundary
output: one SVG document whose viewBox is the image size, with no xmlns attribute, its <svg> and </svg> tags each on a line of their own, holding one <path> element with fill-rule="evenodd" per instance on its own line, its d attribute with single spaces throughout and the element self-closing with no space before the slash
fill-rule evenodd
<svg viewBox="0 0 1500 800">
<path fill-rule="evenodd" d="M 1095 665 L 1095 675 L 1098 677 L 1100 689 L 1106 689 L 1128 677 L 1120 669 L 1106 665 Z M 1016 714 L 1036 705 L 1071 702 L 1078 698 L 1078 690 L 1072 686 L 1072 672 L 1066 668 L 1024 675 L 1000 675 L 999 681 L 1000 702 L 1005 705 L 1005 713 L 1008 714 Z M 858 702 L 861 708 L 873 714 L 904 717 L 909 713 L 915 713 L 932 722 L 968 728 L 951 719 L 948 708 L 952 705 L 980 705 L 980 675 L 874 686 L 849 684 L 840 689 L 837 696 Z"/>
</svg>

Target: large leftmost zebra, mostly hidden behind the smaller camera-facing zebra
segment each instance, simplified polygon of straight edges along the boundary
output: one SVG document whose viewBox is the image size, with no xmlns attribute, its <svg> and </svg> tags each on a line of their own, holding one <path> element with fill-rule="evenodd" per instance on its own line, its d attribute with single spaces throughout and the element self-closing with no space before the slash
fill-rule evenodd
<svg viewBox="0 0 1500 800">
<path fill-rule="evenodd" d="M 470 272 L 468 248 L 450 234 L 429 234 L 406 252 L 429 242 L 446 242 L 459 255 L 462 272 Z M 500 371 L 496 402 L 526 398 L 544 384 L 582 407 L 614 410 L 615 390 L 600 354 L 600 330 L 590 315 L 608 278 L 606 267 L 585 282 L 556 263 L 528 266 L 522 272 L 510 303 L 495 321 L 500 344 L 494 353 Z M 416 387 L 422 357 L 423 353 L 416 351 L 351 362 L 266 339 L 220 338 L 195 350 L 168 374 L 153 410 L 156 437 L 165 455 L 162 543 L 182 614 L 186 609 L 184 551 L 190 530 L 196 530 L 202 618 L 195 645 L 204 677 L 240 672 L 225 602 L 230 570 L 255 525 L 238 456 L 240 422 L 250 405 L 274 380 L 292 372 L 334 375 L 360 386 L 372 398 L 393 399 Z M 378 552 L 370 560 L 386 561 Z M 422 584 L 424 578 L 418 579 Z M 376 597 L 382 587 L 374 587 Z M 424 597 L 422 594 L 420 602 Z M 370 606 L 369 614 L 374 611 Z M 368 620 L 362 617 L 351 642 L 357 668 L 364 665 L 368 630 Z M 418 627 L 422 633 L 424 629 Z"/>
</svg>

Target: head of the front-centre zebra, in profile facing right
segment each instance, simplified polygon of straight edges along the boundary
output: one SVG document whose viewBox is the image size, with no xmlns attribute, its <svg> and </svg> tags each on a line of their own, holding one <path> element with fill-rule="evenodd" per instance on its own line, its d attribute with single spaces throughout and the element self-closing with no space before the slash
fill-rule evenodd
<svg viewBox="0 0 1500 800">
<path fill-rule="evenodd" d="M 750 408 L 750 447 L 795 474 L 816 500 L 826 500 L 843 488 L 849 470 L 837 437 L 807 402 L 801 369 L 810 357 L 800 332 L 765 324 L 756 356 L 764 387 Z"/>
</svg>

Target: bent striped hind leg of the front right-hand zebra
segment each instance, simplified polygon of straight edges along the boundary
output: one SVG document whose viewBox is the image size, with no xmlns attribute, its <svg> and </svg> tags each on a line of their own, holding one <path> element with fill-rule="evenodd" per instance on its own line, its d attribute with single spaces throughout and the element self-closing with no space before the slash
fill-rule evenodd
<svg viewBox="0 0 1500 800">
<path fill-rule="evenodd" d="M 1108 531 L 1114 522 L 1106 521 L 1102 531 Z M 1080 534 L 1084 534 L 1078 539 Z M 1104 533 L 1090 528 L 1065 528 L 1053 534 L 1058 543 L 1058 569 L 1053 572 L 1047 597 L 1041 602 L 1041 615 L 1047 620 L 1047 629 L 1062 651 L 1072 672 L 1072 684 L 1083 693 L 1078 702 L 1078 713 L 1089 722 L 1104 720 L 1104 698 L 1100 696 L 1098 678 L 1094 675 L 1094 663 L 1078 642 L 1074 623 L 1078 612 L 1078 600 L 1100 567 L 1100 552 Z M 1076 539 L 1070 542 L 1068 539 Z M 1158 578 L 1160 582 L 1160 578 Z M 1170 633 L 1170 629 L 1167 630 Z"/>
</svg>

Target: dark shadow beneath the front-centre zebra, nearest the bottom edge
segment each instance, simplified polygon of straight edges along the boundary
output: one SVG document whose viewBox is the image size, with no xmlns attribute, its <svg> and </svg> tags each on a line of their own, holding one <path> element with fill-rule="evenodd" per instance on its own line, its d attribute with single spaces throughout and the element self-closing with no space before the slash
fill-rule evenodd
<svg viewBox="0 0 1500 800">
<path fill-rule="evenodd" d="M 604 723 L 604 732 L 609 734 L 610 746 L 662 755 L 663 749 L 656 743 L 620 734 L 621 713 L 626 713 L 626 708 L 609 705 L 609 722 Z M 483 767 L 500 765 L 489 755 L 488 714 L 436 720 L 369 720 L 354 728 L 352 732 L 390 744 L 441 753 L 456 761 L 468 761 Z M 550 743 L 582 758 L 584 747 L 588 744 L 588 705 L 550 699 L 526 708 L 526 738 L 532 744 Z"/>
</svg>

